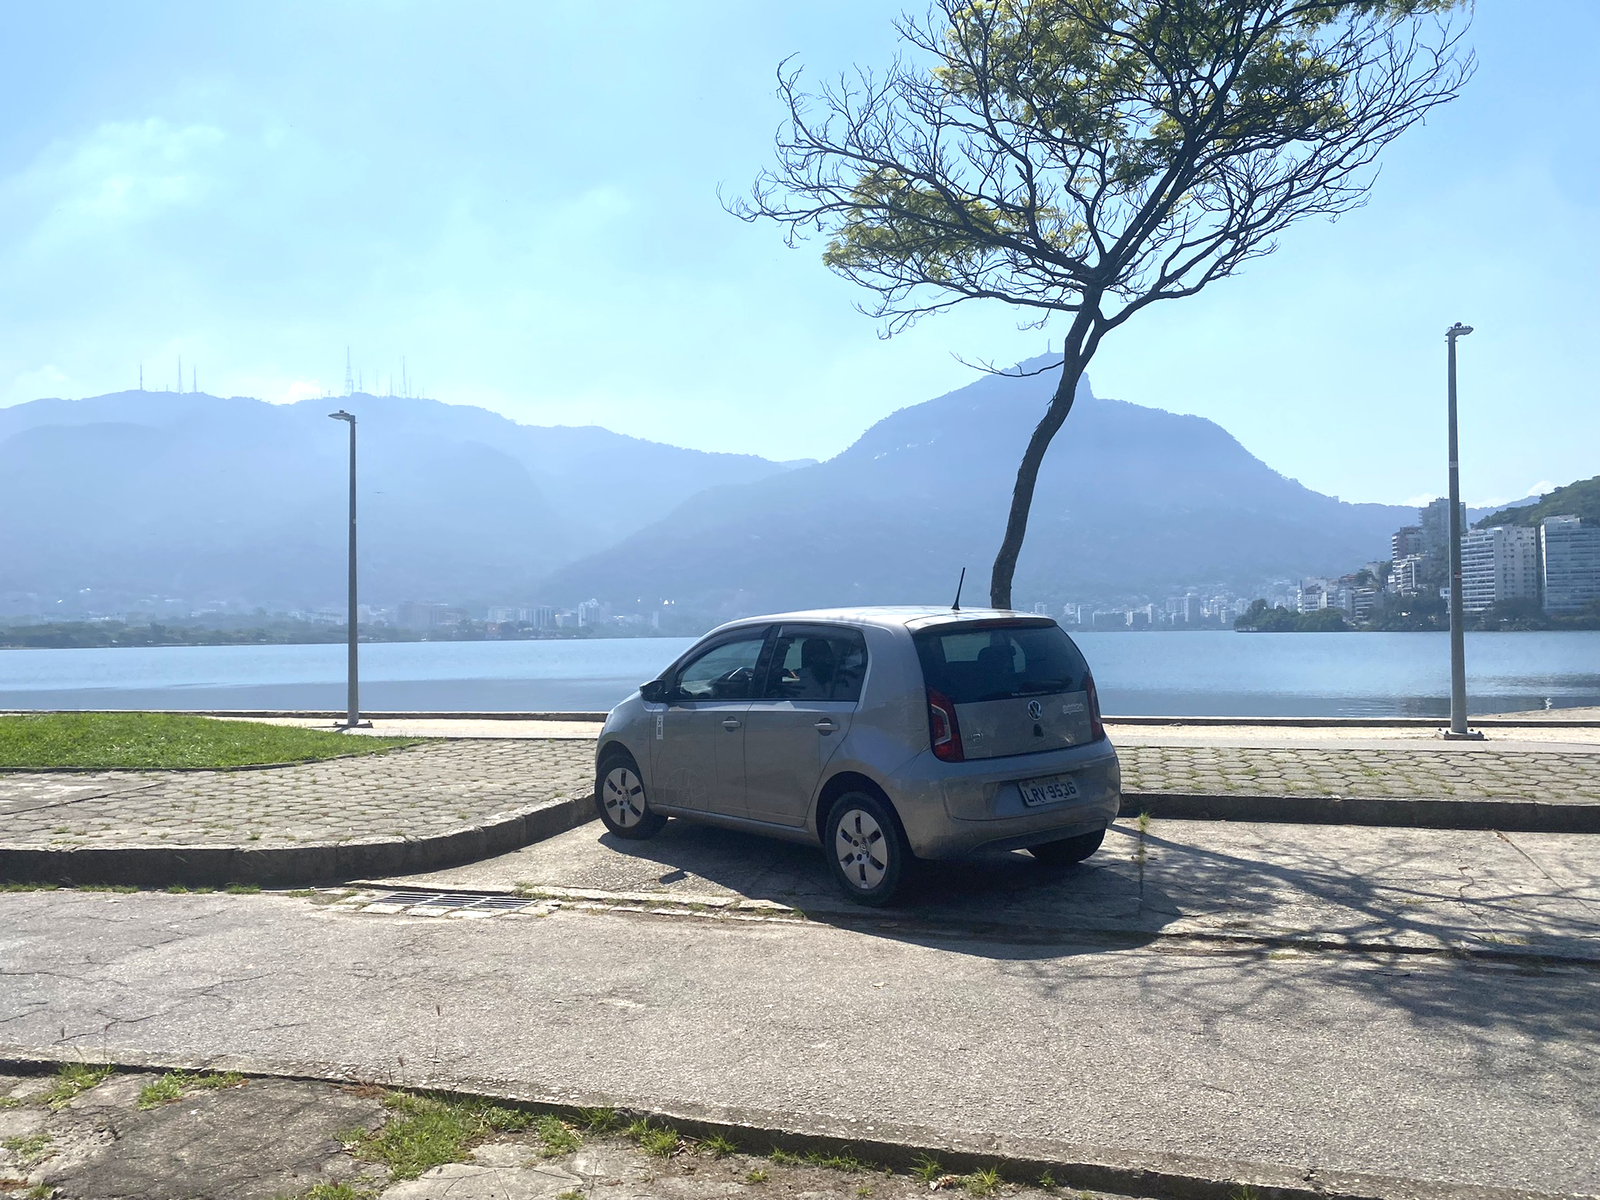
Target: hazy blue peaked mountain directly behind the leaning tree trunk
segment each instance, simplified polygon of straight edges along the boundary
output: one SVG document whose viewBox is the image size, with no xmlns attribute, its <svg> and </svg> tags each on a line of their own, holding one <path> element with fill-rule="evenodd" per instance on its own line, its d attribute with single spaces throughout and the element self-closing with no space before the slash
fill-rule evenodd
<svg viewBox="0 0 1600 1200">
<path fill-rule="evenodd" d="M 1043 360 L 1022 363 L 1035 370 Z M 672 598 L 723 613 L 987 600 L 1016 464 L 1053 378 L 987 376 L 904 408 L 837 458 L 707 490 L 557 571 L 557 602 Z M 1101 400 L 1085 381 L 1045 461 L 1014 600 L 1094 600 L 1352 571 L 1416 510 L 1285 478 L 1221 426 Z"/>
</svg>

